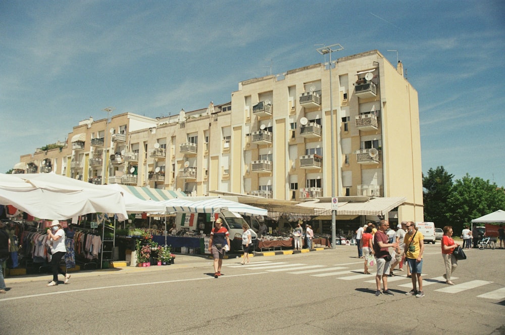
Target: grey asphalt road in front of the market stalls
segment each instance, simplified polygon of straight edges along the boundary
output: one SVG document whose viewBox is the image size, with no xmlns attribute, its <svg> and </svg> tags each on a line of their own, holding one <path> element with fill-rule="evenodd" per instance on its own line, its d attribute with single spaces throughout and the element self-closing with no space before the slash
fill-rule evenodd
<svg viewBox="0 0 505 335">
<path fill-rule="evenodd" d="M 394 296 L 375 297 L 356 247 L 212 260 L 178 256 L 172 266 L 8 278 L 0 333 L 9 334 L 505 334 L 505 250 L 469 250 L 453 275 L 440 244 L 425 251 L 424 298 L 405 296 L 406 272 L 389 278 Z"/>
</svg>

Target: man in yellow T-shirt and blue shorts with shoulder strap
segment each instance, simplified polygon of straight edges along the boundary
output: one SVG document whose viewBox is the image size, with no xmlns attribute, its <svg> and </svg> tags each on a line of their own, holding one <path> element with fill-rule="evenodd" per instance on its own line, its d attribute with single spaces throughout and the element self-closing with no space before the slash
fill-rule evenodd
<svg viewBox="0 0 505 335">
<path fill-rule="evenodd" d="M 405 243 L 405 257 L 412 273 L 412 290 L 405 295 L 423 298 L 423 278 L 421 273 L 423 270 L 424 236 L 422 232 L 417 230 L 414 222 L 409 221 L 405 226 L 407 227 L 407 234 L 403 239 L 403 243 Z M 419 285 L 419 291 L 416 284 Z"/>
</svg>

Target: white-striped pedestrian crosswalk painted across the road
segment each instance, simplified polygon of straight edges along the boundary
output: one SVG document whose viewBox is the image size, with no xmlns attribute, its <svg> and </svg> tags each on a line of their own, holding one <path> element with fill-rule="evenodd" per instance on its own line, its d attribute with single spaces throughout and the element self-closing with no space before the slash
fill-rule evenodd
<svg viewBox="0 0 505 335">
<path fill-rule="evenodd" d="M 338 280 L 364 280 L 366 283 L 375 284 L 375 273 L 363 274 L 363 261 L 352 262 L 345 264 L 335 265 L 308 265 L 305 263 L 289 263 L 289 262 L 272 262 L 272 261 L 258 261 L 253 263 L 242 264 L 223 264 L 229 268 L 240 268 L 244 270 L 263 270 L 266 272 L 285 272 L 293 275 L 310 275 L 312 277 L 335 277 Z M 369 269 L 373 271 L 373 267 Z M 459 279 L 452 277 L 452 280 Z M 405 274 L 396 274 L 393 277 L 388 277 L 388 284 L 398 286 L 399 288 L 412 288 L 412 279 L 408 278 Z M 464 291 L 479 288 L 481 286 L 489 285 L 493 281 L 487 280 L 470 280 L 456 285 L 446 285 L 445 279 L 442 276 L 430 277 L 423 273 L 423 288 L 425 286 L 440 284 L 441 288 L 433 290 L 434 292 L 441 292 L 446 294 L 457 294 Z M 436 286 L 435 286 L 436 287 Z M 505 299 L 505 288 L 493 290 L 484 294 L 480 294 L 477 298 L 503 300 Z"/>
</svg>

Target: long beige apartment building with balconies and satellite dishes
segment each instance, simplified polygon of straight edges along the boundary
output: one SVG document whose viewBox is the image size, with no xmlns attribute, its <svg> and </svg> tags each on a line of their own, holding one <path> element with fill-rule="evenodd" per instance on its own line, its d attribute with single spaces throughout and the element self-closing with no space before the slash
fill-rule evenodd
<svg viewBox="0 0 505 335">
<path fill-rule="evenodd" d="M 418 95 L 402 64 L 395 68 L 374 50 L 333 61 L 331 79 L 329 66 L 242 81 L 231 103 L 201 110 L 81 121 L 66 146 L 21 156 L 17 171 L 48 172 L 49 161 L 49 171 L 73 178 L 192 196 L 405 197 L 390 215 L 422 221 Z"/>
</svg>

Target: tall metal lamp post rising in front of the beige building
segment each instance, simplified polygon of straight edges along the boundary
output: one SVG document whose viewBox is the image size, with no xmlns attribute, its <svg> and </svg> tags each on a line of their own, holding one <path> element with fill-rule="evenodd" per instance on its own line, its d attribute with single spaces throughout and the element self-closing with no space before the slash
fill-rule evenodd
<svg viewBox="0 0 505 335">
<path fill-rule="evenodd" d="M 340 51 L 343 50 L 343 46 L 340 44 L 332 44 L 328 46 L 323 46 L 320 47 L 319 49 L 316 49 L 318 53 L 321 55 L 330 55 L 330 137 L 331 137 L 331 198 L 335 197 L 335 134 L 334 134 L 334 121 L 333 121 L 333 94 L 332 94 L 332 87 L 331 87 L 331 53 L 334 51 Z M 338 117 L 338 111 L 337 111 L 337 117 Z M 337 127 L 337 137 L 340 138 L 340 127 Z M 340 153 L 340 150 L 339 150 Z M 340 164 L 340 154 L 337 155 L 337 164 L 338 166 L 341 166 Z M 340 171 L 338 172 L 339 180 L 340 180 Z M 340 185 L 340 182 L 339 182 Z M 341 187 L 339 187 L 341 189 Z M 340 195 L 341 190 L 339 190 L 338 195 Z M 333 206 L 333 203 L 332 203 Z M 335 249 L 335 244 L 336 244 L 336 210 L 332 208 L 331 210 L 331 246 L 333 249 Z"/>
</svg>

